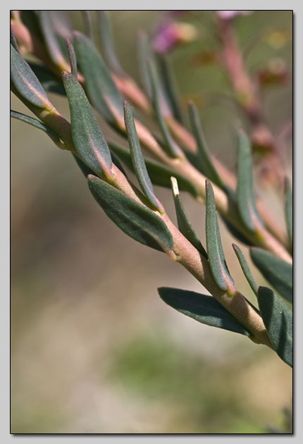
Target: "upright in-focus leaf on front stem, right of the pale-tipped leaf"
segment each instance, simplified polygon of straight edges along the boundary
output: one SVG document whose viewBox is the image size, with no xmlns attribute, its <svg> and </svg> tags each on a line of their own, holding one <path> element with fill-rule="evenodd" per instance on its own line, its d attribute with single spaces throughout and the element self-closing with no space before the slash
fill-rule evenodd
<svg viewBox="0 0 303 444">
<path fill-rule="evenodd" d="M 221 290 L 233 295 L 235 291 L 233 278 L 230 276 L 225 262 L 221 236 L 216 214 L 214 190 L 209 180 L 205 181 L 206 187 L 206 247 L 209 257 L 211 273 L 216 284 Z"/>
</svg>

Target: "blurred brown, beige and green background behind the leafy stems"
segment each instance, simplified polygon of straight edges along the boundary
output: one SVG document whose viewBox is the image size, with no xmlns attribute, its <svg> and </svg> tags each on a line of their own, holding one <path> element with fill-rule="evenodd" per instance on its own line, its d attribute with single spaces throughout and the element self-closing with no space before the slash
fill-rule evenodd
<svg viewBox="0 0 303 444">
<path fill-rule="evenodd" d="M 233 125 L 247 122 L 233 101 L 205 101 L 205 93 L 231 94 L 220 66 L 211 58 L 199 62 L 199 54 L 218 44 L 211 14 L 182 17 L 197 26 L 199 37 L 175 48 L 169 59 L 183 104 L 194 97 L 209 146 L 233 169 Z M 139 83 L 137 32 L 152 32 L 161 15 L 110 13 L 120 61 Z M 80 13 L 71 17 L 82 30 Z M 235 18 L 234 25 L 250 73 L 272 58 L 282 58 L 290 72 L 285 85 L 261 92 L 266 119 L 277 134 L 292 118 L 292 13 L 255 11 Z M 49 97 L 68 118 L 66 99 Z M 28 113 L 13 96 L 11 108 Z M 287 140 L 289 170 L 291 155 Z M 156 192 L 175 220 L 171 191 L 156 187 Z M 269 187 L 264 199 L 282 219 L 280 195 Z M 204 207 L 186 194 L 183 201 L 204 240 Z M 237 286 L 251 295 L 233 238 L 222 224 L 221 233 Z M 256 269 L 254 276 L 265 284 Z M 68 152 L 12 120 L 12 433 L 285 431 L 283 409 L 292 405 L 290 368 L 266 347 L 175 312 L 159 298 L 159 286 L 206 292 L 185 269 L 106 218 Z"/>
</svg>

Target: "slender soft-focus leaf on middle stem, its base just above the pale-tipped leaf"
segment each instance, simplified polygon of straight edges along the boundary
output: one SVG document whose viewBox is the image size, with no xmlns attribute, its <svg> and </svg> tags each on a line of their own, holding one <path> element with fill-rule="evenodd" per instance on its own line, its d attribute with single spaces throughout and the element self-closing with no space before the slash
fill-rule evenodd
<svg viewBox="0 0 303 444">
<path fill-rule="evenodd" d="M 161 111 L 159 79 L 156 73 L 156 66 L 150 59 L 147 62 L 147 66 L 149 68 L 149 76 L 152 81 L 152 97 L 153 97 L 152 101 L 154 104 L 154 111 L 156 113 L 156 118 L 161 128 L 161 133 L 163 135 L 164 149 L 166 150 L 168 156 L 178 157 L 179 156 L 178 145 L 173 140 L 171 132 L 168 130 L 168 126 L 166 125 L 166 121 L 164 120 L 163 113 Z"/>
</svg>

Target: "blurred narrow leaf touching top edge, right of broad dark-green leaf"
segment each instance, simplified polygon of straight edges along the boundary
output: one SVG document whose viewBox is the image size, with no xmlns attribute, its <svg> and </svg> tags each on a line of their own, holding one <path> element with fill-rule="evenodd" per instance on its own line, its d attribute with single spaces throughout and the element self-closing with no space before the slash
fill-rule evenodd
<svg viewBox="0 0 303 444">
<path fill-rule="evenodd" d="M 111 31 L 111 22 L 107 11 L 97 11 L 98 13 L 98 32 L 101 42 L 101 48 L 104 51 L 106 62 L 109 67 L 119 77 L 128 78 L 123 68 L 120 66 L 113 44 L 113 33 Z"/>
</svg>

